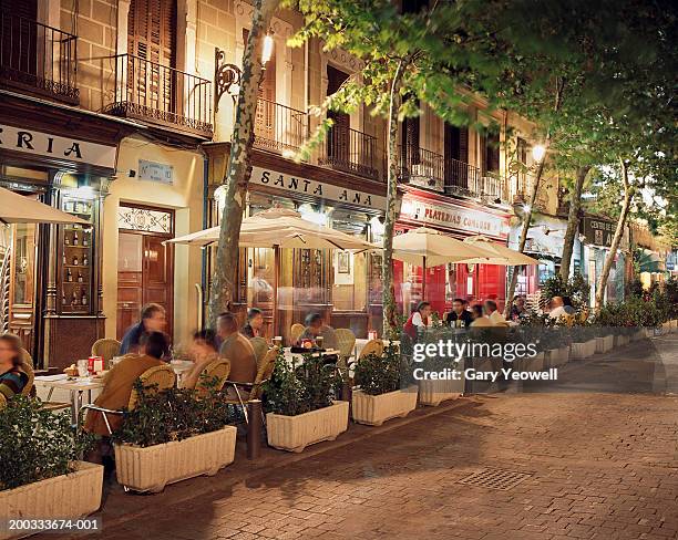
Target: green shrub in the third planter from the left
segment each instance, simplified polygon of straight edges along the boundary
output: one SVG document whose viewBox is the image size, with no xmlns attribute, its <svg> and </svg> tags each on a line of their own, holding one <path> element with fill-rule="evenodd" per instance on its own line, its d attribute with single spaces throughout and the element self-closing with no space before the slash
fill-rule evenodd
<svg viewBox="0 0 678 540">
<path fill-rule="evenodd" d="M 264 385 L 264 409 L 296 416 L 328 407 L 338 398 L 342 383 L 337 366 L 327 364 L 322 355 L 304 355 L 297 364 L 280 353 L 270 380 Z"/>
</svg>

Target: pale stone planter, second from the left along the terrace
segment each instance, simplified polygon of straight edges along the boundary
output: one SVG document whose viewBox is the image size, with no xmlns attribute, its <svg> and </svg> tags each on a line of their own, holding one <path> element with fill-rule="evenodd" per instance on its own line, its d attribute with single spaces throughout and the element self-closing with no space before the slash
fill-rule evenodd
<svg viewBox="0 0 678 540">
<path fill-rule="evenodd" d="M 162 491 L 167 484 L 201 475 L 214 476 L 235 459 L 234 426 L 184 440 L 142 448 L 115 445 L 117 481 L 134 491 Z"/>
</svg>

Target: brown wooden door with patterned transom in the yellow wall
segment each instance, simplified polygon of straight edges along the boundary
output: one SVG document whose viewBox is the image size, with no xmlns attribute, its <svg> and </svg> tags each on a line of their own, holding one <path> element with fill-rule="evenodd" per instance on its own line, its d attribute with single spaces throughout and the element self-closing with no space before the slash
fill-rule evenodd
<svg viewBox="0 0 678 540">
<path fill-rule="evenodd" d="M 174 237 L 174 212 L 136 207 L 121 207 L 134 212 L 137 219 L 125 221 L 140 229 L 119 228 L 117 235 L 117 320 L 116 336 L 122 340 L 125 331 L 138 322 L 142 308 L 157 303 L 165 308 L 167 326 L 172 338 L 174 314 L 174 249 L 163 245 Z M 163 231 L 148 230 L 142 219 L 144 212 L 168 215 Z M 154 220 L 153 222 L 157 222 Z"/>
</svg>

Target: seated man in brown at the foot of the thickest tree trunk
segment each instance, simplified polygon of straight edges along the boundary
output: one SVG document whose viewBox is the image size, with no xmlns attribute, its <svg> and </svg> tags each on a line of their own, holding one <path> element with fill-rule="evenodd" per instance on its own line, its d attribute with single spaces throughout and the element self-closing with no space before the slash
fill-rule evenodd
<svg viewBox="0 0 678 540">
<path fill-rule="evenodd" d="M 222 342 L 219 356 L 230 362 L 229 381 L 254 383 L 257 377 L 257 356 L 238 326 L 238 320 L 233 313 L 224 312 L 217 316 L 216 333 Z"/>
</svg>

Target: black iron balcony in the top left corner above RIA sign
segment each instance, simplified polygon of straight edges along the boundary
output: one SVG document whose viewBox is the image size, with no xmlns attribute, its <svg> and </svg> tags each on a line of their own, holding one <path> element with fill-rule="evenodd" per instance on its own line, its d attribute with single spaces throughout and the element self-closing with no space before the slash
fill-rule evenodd
<svg viewBox="0 0 678 540">
<path fill-rule="evenodd" d="M 0 86 L 76 105 L 76 40 L 0 10 Z"/>
</svg>

